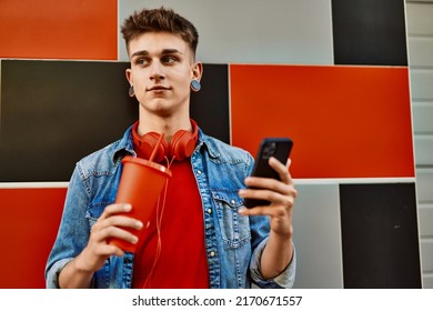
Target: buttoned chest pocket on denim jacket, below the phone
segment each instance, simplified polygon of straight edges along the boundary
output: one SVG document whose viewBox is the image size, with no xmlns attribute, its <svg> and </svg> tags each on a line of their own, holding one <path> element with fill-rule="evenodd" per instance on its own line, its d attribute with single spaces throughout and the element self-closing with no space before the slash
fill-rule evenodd
<svg viewBox="0 0 433 311">
<path fill-rule="evenodd" d="M 239 214 L 243 200 L 238 195 L 238 192 L 212 191 L 212 198 L 224 247 L 236 249 L 250 242 L 250 220 L 248 217 Z"/>
</svg>

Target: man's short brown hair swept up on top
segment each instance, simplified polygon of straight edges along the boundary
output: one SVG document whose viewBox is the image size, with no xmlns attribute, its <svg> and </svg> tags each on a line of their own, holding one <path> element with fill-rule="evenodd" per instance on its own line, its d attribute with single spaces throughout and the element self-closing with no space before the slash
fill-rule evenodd
<svg viewBox="0 0 433 311">
<path fill-rule="evenodd" d="M 161 7 L 160 9 L 134 11 L 132 16 L 124 20 L 121 28 L 128 50 L 129 42 L 137 36 L 158 31 L 167 31 L 180 36 L 195 56 L 199 43 L 199 33 L 195 27 L 171 9 Z"/>
</svg>

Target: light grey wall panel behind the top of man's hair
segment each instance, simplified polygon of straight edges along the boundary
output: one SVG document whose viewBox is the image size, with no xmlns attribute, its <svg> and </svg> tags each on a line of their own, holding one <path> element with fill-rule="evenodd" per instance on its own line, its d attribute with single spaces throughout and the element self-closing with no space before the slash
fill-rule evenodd
<svg viewBox="0 0 433 311">
<path fill-rule="evenodd" d="M 333 63 L 331 1 L 131 0 L 119 6 L 119 21 L 143 7 L 161 6 L 198 28 L 198 59 L 203 62 Z M 121 36 L 119 58 L 128 59 Z"/>
</svg>

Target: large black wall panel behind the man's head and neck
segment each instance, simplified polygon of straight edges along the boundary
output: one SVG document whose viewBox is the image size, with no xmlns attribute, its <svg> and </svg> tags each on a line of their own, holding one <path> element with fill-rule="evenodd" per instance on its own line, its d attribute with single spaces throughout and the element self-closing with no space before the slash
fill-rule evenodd
<svg viewBox="0 0 433 311">
<path fill-rule="evenodd" d="M 138 120 L 128 62 L 1 61 L 0 182 L 68 181 L 82 157 Z M 228 67 L 204 66 L 192 117 L 226 142 Z"/>
</svg>

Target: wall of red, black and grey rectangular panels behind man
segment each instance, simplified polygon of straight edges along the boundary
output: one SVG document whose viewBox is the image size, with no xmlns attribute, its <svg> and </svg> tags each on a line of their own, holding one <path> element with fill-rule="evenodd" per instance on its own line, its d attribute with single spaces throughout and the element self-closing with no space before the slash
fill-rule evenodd
<svg viewBox="0 0 433 311">
<path fill-rule="evenodd" d="M 0 243 L 21 254 L 0 288 L 44 287 L 74 163 L 138 118 L 119 24 L 162 4 L 200 33 L 199 126 L 294 141 L 295 287 L 422 287 L 404 1 L 27 2 L 0 3 Z"/>
</svg>

